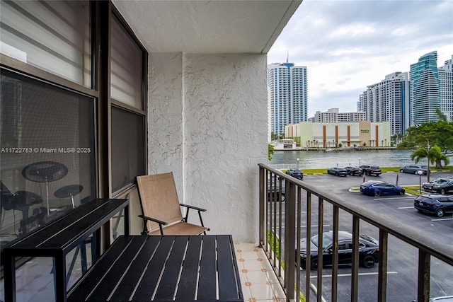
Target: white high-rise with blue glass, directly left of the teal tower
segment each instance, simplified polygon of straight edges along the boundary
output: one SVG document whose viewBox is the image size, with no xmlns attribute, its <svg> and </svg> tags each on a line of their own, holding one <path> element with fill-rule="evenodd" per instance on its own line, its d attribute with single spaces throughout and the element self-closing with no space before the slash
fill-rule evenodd
<svg viewBox="0 0 453 302">
<path fill-rule="evenodd" d="M 390 122 L 390 134 L 405 134 L 411 123 L 411 85 L 407 72 L 388 74 L 379 83 L 367 86 L 357 102 L 370 122 Z"/>
</svg>

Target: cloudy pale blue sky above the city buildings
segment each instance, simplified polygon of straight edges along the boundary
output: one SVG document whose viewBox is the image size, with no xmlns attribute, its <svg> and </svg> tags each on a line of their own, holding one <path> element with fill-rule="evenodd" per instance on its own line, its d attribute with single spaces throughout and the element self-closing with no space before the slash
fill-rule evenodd
<svg viewBox="0 0 453 302">
<path fill-rule="evenodd" d="M 453 0 L 304 0 L 268 52 L 268 64 L 306 66 L 308 117 L 357 111 L 367 86 L 437 51 L 453 55 Z"/>
</svg>

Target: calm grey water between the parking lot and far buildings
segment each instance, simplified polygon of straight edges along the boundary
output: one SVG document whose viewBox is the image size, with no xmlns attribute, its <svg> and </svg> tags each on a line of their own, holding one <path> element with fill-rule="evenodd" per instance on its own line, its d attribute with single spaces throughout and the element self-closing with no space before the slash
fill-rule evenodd
<svg viewBox="0 0 453 302">
<path fill-rule="evenodd" d="M 344 151 L 275 151 L 270 165 L 274 168 L 330 168 L 347 165 L 380 165 L 381 167 L 400 167 L 411 165 L 411 150 L 344 150 Z M 426 165 L 426 161 L 420 161 Z"/>
</svg>

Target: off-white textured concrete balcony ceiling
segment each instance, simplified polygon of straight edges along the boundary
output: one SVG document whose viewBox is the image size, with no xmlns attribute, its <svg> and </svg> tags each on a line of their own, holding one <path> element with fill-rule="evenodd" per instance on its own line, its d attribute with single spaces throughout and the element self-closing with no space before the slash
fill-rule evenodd
<svg viewBox="0 0 453 302">
<path fill-rule="evenodd" d="M 301 1 L 113 0 L 149 52 L 266 53 Z"/>
</svg>

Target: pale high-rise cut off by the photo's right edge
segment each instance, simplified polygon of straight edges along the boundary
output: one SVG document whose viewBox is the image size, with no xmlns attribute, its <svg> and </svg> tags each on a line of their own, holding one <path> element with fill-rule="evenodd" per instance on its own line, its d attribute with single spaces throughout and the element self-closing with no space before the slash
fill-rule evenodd
<svg viewBox="0 0 453 302">
<path fill-rule="evenodd" d="M 440 88 L 440 110 L 453 120 L 453 55 L 445 61 L 445 65 L 438 68 Z"/>
</svg>

